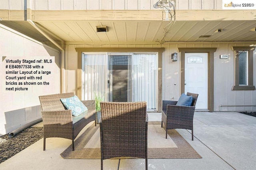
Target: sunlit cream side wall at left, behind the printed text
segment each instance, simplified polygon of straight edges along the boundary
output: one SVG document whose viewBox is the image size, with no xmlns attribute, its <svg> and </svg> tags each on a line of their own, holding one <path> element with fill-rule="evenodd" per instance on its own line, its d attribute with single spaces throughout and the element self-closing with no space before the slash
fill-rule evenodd
<svg viewBox="0 0 256 170">
<path fill-rule="evenodd" d="M 46 45 L 42 45 L 42 43 L 34 41 L 4 25 L 0 25 L 0 56 L 0 103 L 2 104 L 1 106 L 4 106 L 0 109 L 1 136 L 26 123 L 41 118 L 41 106 L 38 96 L 60 92 L 60 52 Z M 5 67 L 6 61 L 4 58 L 2 59 L 4 56 L 6 56 L 5 59 L 17 58 L 21 60 L 40 60 L 47 59 L 48 57 L 54 59 L 55 63 L 51 65 L 53 66 L 51 68 L 51 76 L 42 76 L 44 81 L 49 82 L 50 85 L 29 86 L 28 91 L 6 91 L 7 70 Z"/>
</svg>

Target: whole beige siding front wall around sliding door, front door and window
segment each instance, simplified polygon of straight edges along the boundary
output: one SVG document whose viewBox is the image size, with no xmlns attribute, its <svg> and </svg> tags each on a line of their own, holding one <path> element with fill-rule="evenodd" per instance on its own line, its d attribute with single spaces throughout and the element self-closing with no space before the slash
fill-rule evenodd
<svg viewBox="0 0 256 170">
<path fill-rule="evenodd" d="M 74 48 L 159 48 L 164 47 L 162 59 L 162 99 L 178 100 L 180 97 L 180 53 L 178 48 L 217 48 L 214 53 L 214 111 L 219 111 L 219 105 L 255 105 L 256 90 L 236 90 L 232 91 L 234 86 L 234 51 L 232 46 L 249 46 L 244 43 L 177 43 L 164 45 L 67 45 L 68 50 L 68 86 L 67 92 L 75 91 L 77 53 Z M 178 53 L 178 61 L 171 61 L 171 54 Z M 255 51 L 256 52 L 256 51 Z M 220 55 L 227 54 L 228 59 L 220 59 Z M 254 59 L 256 53 L 254 53 Z M 256 72 L 256 63 L 254 62 L 254 73 Z M 254 85 L 256 85 L 256 75 L 254 74 Z M 176 84 L 176 85 L 174 85 Z M 256 107 L 221 107 L 221 111 L 251 111 Z"/>
</svg>

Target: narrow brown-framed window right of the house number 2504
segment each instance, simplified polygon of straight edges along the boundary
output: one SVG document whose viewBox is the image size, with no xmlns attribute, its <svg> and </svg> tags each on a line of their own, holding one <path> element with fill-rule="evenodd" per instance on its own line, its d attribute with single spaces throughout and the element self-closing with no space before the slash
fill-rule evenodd
<svg viewBox="0 0 256 170">
<path fill-rule="evenodd" d="M 253 51 L 255 47 L 232 47 L 235 56 L 235 85 L 232 90 L 255 90 Z"/>
</svg>

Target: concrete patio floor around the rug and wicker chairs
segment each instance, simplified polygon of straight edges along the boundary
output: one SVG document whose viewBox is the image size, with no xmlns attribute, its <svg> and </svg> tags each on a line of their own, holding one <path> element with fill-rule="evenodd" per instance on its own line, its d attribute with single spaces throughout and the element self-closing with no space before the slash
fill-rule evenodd
<svg viewBox="0 0 256 170">
<path fill-rule="evenodd" d="M 149 121 L 161 121 L 161 113 L 148 113 Z M 89 124 L 90 125 L 90 124 Z M 83 131 L 89 126 L 87 125 Z M 36 124 L 42 126 L 42 123 Z M 238 112 L 195 112 L 194 141 L 191 131 L 176 129 L 202 156 L 199 159 L 148 159 L 149 170 L 255 170 L 256 117 Z M 82 131 L 82 132 L 83 132 Z M 81 132 L 81 133 L 82 133 Z M 80 133 L 80 134 L 81 134 Z M 100 159 L 64 159 L 71 141 L 43 139 L 2 162 L 2 170 L 98 170 Z M 104 160 L 104 169 L 143 170 L 144 159 Z"/>
</svg>

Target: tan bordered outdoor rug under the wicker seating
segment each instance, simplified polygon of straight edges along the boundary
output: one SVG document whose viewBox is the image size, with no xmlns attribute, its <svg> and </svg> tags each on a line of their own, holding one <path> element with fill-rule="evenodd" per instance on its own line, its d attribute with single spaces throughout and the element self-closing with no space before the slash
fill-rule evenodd
<svg viewBox="0 0 256 170">
<path fill-rule="evenodd" d="M 70 145 L 60 155 L 65 159 L 100 159 L 100 128 L 92 124 L 78 137 L 75 150 Z M 148 122 L 148 158 L 202 158 L 188 142 L 175 130 L 165 130 L 160 121 Z"/>
</svg>

